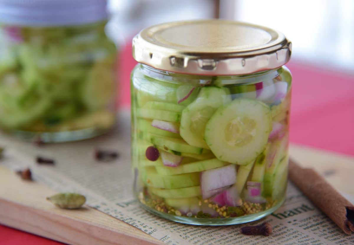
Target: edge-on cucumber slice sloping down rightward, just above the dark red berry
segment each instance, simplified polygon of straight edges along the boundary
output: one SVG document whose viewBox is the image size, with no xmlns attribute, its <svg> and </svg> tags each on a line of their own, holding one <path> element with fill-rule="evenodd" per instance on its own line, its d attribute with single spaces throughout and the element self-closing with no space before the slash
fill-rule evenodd
<svg viewBox="0 0 354 245">
<path fill-rule="evenodd" d="M 145 133 L 144 138 L 148 142 L 150 142 L 154 145 L 157 145 L 159 147 L 162 147 L 166 151 L 172 150 L 172 151 L 193 153 L 193 154 L 203 154 L 203 153 L 210 152 L 209 150 L 206 150 L 203 148 L 188 145 L 182 139 L 161 137 L 159 135 L 151 134 L 151 133 Z M 178 155 L 178 154 L 176 154 L 176 155 Z"/>
</svg>

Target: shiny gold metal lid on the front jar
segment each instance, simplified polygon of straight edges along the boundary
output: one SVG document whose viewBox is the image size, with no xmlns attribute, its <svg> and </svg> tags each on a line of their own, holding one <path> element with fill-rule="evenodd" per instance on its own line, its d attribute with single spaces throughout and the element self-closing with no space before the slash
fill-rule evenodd
<svg viewBox="0 0 354 245">
<path fill-rule="evenodd" d="M 164 71 L 237 75 L 278 68 L 291 42 L 273 29 L 227 20 L 158 24 L 133 39 L 136 61 Z"/>
</svg>

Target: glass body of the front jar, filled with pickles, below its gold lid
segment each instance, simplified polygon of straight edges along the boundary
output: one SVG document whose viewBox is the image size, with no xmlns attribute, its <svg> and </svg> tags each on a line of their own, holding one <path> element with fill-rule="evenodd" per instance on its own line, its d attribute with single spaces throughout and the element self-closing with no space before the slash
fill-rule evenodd
<svg viewBox="0 0 354 245">
<path fill-rule="evenodd" d="M 138 64 L 131 76 L 135 195 L 189 224 L 259 219 L 285 199 L 291 74 L 202 76 Z"/>
</svg>

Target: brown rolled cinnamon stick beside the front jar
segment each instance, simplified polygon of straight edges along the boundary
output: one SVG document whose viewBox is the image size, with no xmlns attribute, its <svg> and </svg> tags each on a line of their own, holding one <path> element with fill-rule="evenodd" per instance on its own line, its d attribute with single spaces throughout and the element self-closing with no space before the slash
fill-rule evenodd
<svg viewBox="0 0 354 245">
<path fill-rule="evenodd" d="M 290 180 L 346 234 L 354 232 L 354 206 L 314 169 L 290 159 Z"/>
</svg>

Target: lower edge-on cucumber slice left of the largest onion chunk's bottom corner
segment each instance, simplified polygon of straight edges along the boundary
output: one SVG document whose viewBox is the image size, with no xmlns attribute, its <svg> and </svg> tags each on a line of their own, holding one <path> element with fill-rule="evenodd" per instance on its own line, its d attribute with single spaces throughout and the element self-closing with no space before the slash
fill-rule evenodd
<svg viewBox="0 0 354 245">
<path fill-rule="evenodd" d="M 200 196 L 200 186 L 192 186 L 178 189 L 150 188 L 151 193 L 164 198 L 185 198 Z"/>
</svg>

